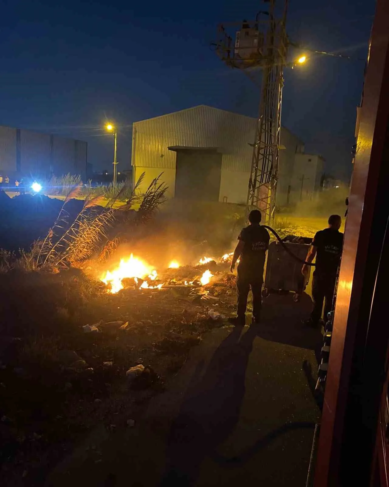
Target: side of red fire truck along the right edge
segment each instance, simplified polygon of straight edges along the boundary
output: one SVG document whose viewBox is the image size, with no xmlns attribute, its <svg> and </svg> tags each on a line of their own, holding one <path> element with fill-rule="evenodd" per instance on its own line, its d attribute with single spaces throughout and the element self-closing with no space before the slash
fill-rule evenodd
<svg viewBox="0 0 389 487">
<path fill-rule="evenodd" d="M 389 1 L 371 31 L 315 487 L 389 486 Z"/>
</svg>

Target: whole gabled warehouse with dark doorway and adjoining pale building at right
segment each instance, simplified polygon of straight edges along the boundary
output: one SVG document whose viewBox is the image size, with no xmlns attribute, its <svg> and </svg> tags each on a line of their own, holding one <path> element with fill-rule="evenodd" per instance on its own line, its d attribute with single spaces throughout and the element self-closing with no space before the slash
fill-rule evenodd
<svg viewBox="0 0 389 487">
<path fill-rule="evenodd" d="M 246 204 L 256 124 L 255 118 L 205 105 L 135 122 L 133 179 L 145 172 L 144 190 L 163 172 L 168 198 Z M 322 159 L 303 154 L 303 147 L 296 135 L 282 128 L 277 187 L 280 206 L 300 199 L 302 170 L 307 172 L 307 184 L 310 179 L 315 181 L 307 190 L 315 191 L 316 181 L 320 182 L 318 161 Z M 301 158 L 305 155 L 306 165 Z M 316 164 L 308 166 L 309 158 L 316 158 Z"/>
</svg>

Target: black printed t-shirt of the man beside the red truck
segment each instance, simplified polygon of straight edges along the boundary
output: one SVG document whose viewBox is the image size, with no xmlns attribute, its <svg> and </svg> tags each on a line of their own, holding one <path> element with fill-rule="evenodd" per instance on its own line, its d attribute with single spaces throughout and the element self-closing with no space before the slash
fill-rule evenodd
<svg viewBox="0 0 389 487">
<path fill-rule="evenodd" d="M 320 230 L 312 245 L 318 247 L 316 253 L 316 271 L 320 274 L 336 274 L 342 255 L 343 233 L 333 228 Z"/>
</svg>

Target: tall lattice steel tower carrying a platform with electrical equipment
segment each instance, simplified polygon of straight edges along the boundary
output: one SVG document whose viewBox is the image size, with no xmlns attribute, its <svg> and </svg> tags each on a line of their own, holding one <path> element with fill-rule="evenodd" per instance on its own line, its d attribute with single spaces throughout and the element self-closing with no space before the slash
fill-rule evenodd
<svg viewBox="0 0 389 487">
<path fill-rule="evenodd" d="M 213 45 L 228 66 L 248 74 L 255 69 L 262 72 L 247 205 L 258 207 L 264 220 L 270 222 L 276 208 L 283 68 L 288 46 L 285 31 L 288 0 L 265 0 L 264 3 L 268 8 L 259 11 L 255 20 L 220 25 L 219 40 Z M 234 27 L 233 44 L 228 29 Z"/>
</svg>

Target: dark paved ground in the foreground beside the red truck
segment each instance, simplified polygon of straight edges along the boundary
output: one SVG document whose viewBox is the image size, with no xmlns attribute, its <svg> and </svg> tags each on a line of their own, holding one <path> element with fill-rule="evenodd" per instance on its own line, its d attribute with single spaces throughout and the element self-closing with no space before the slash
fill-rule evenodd
<svg viewBox="0 0 389 487">
<path fill-rule="evenodd" d="M 316 371 L 321 346 L 300 321 L 310 301 L 271 295 L 259 327 L 210 333 L 134 428 L 98 426 L 47 485 L 305 486 L 319 410 L 303 363 Z"/>
</svg>

